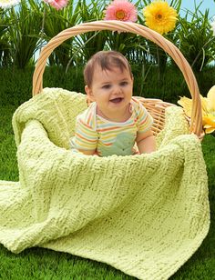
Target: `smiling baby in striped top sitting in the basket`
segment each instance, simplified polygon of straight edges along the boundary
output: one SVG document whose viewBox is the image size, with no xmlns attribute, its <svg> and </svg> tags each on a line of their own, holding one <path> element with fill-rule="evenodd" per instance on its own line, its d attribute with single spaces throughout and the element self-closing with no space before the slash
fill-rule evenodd
<svg viewBox="0 0 215 280">
<path fill-rule="evenodd" d="M 92 103 L 77 115 L 71 147 L 85 155 L 99 156 L 155 151 L 153 119 L 132 97 L 134 78 L 126 57 L 115 51 L 98 52 L 87 62 L 84 77 Z"/>
</svg>

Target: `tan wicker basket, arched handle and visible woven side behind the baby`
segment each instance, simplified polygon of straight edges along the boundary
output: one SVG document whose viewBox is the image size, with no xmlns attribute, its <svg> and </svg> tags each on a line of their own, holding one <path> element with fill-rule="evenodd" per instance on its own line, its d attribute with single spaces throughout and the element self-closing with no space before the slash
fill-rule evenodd
<svg viewBox="0 0 215 280">
<path fill-rule="evenodd" d="M 48 44 L 43 48 L 41 54 L 39 55 L 35 73 L 33 76 L 33 95 L 39 94 L 43 89 L 43 74 L 46 67 L 46 60 L 53 50 L 69 39 L 72 36 L 100 30 L 111 30 L 119 32 L 130 32 L 137 35 L 141 35 L 148 40 L 159 45 L 167 54 L 169 54 L 175 63 L 179 66 L 184 79 L 189 87 L 189 92 L 192 97 L 192 115 L 189 119 L 189 130 L 190 133 L 194 133 L 199 138 L 202 138 L 202 115 L 201 115 L 201 103 L 200 103 L 200 91 L 196 81 L 196 78 L 192 72 L 192 69 L 185 59 L 185 57 L 180 53 L 179 49 L 173 45 L 169 40 L 165 39 L 162 35 L 149 29 L 144 25 L 138 25 L 134 23 L 120 22 L 120 21 L 96 21 L 85 23 L 81 25 L 76 25 L 68 28 L 58 35 L 53 37 Z M 148 109 L 148 112 L 154 118 L 153 132 L 157 135 L 160 130 L 162 130 L 165 124 L 165 108 L 169 103 L 163 102 L 159 99 L 148 99 L 139 97 L 139 100 Z"/>
</svg>

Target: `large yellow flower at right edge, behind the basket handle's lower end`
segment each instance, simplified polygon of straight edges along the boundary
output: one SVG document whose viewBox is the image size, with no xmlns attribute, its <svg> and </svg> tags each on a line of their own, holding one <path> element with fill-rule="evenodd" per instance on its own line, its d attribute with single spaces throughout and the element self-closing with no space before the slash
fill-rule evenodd
<svg viewBox="0 0 215 280">
<path fill-rule="evenodd" d="M 202 108 L 202 125 L 206 134 L 215 131 L 215 85 L 210 88 L 207 97 L 200 95 Z M 188 97 L 180 97 L 178 101 L 189 117 L 191 116 L 192 100 Z"/>
</svg>

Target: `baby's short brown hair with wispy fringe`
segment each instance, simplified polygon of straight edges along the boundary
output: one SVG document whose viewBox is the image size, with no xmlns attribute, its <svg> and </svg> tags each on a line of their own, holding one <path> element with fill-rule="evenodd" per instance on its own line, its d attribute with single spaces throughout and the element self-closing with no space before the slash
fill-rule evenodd
<svg viewBox="0 0 215 280">
<path fill-rule="evenodd" d="M 98 65 L 102 70 L 111 70 L 113 67 L 118 67 L 121 72 L 128 70 L 131 78 L 133 78 L 130 65 L 126 57 L 116 51 L 100 51 L 93 55 L 87 62 L 84 69 L 85 84 L 91 87 L 94 75 L 95 66 Z"/>
</svg>

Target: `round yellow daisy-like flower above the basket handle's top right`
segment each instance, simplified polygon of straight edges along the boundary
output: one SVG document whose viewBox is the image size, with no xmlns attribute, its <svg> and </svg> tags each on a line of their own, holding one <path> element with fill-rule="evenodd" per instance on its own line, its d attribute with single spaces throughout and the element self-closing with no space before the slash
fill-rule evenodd
<svg viewBox="0 0 215 280">
<path fill-rule="evenodd" d="M 143 9 L 146 25 L 159 34 L 165 34 L 176 26 L 177 12 L 165 1 L 155 1 Z"/>
</svg>

